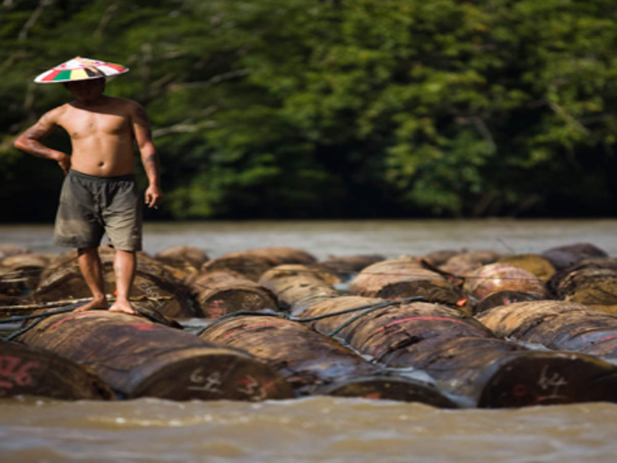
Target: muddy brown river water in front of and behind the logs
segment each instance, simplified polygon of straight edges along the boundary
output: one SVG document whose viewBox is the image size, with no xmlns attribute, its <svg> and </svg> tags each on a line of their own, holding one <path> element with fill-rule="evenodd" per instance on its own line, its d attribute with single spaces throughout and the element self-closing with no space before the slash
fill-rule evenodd
<svg viewBox="0 0 617 463">
<path fill-rule="evenodd" d="M 147 224 L 145 249 L 211 257 L 294 246 L 319 258 L 444 248 L 539 252 L 589 241 L 617 256 L 616 220 Z M 0 242 L 56 252 L 51 227 L 0 227 Z M 617 404 L 441 410 L 313 397 L 265 403 L 0 399 L 0 462 L 615 462 Z"/>
</svg>

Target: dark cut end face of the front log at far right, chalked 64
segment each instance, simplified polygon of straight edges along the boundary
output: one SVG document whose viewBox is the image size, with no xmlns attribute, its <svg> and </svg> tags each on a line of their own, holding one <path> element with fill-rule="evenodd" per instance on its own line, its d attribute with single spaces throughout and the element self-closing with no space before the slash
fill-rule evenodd
<svg viewBox="0 0 617 463">
<path fill-rule="evenodd" d="M 500 365 L 478 407 L 617 401 L 617 368 L 576 352 L 524 352 Z"/>
</svg>

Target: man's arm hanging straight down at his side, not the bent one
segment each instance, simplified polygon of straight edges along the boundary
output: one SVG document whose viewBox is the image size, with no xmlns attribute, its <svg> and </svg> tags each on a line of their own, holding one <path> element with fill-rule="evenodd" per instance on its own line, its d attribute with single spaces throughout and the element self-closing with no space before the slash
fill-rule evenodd
<svg viewBox="0 0 617 463">
<path fill-rule="evenodd" d="M 152 130 L 146 110 L 137 103 L 135 109 L 133 109 L 133 114 L 131 114 L 131 124 L 139 148 L 141 164 L 144 166 L 149 182 L 145 195 L 146 204 L 148 207 L 158 206 L 163 199 L 163 193 L 160 189 L 159 156 L 152 141 Z"/>
</svg>

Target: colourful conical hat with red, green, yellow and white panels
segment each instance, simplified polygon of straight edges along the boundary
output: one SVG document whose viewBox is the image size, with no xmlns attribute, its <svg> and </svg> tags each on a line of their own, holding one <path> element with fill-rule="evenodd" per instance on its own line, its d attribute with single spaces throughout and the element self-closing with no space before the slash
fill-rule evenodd
<svg viewBox="0 0 617 463">
<path fill-rule="evenodd" d="M 35 82 L 54 83 L 89 80 L 122 74 L 126 71 L 128 71 L 128 67 L 121 66 L 120 64 L 76 56 L 67 62 L 39 74 L 35 78 Z"/>
</svg>

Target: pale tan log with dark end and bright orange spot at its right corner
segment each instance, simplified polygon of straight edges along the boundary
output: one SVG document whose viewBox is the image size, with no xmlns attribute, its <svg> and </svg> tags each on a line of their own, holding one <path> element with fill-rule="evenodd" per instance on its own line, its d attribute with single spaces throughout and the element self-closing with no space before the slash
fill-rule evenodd
<svg viewBox="0 0 617 463">
<path fill-rule="evenodd" d="M 425 269 L 416 257 L 369 265 L 350 283 L 349 293 L 384 299 L 422 296 L 426 301 L 458 306 L 471 314 L 471 302 L 463 292 L 439 273 Z"/>
</svg>

